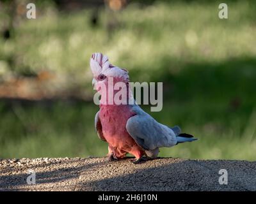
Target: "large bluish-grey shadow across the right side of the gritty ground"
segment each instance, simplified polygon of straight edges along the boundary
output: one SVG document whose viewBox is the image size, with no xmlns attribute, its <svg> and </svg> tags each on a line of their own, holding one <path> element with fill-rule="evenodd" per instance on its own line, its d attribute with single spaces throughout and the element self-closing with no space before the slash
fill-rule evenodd
<svg viewBox="0 0 256 204">
<path fill-rule="evenodd" d="M 161 159 L 157 159 L 161 162 Z M 256 163 L 238 161 L 179 161 L 133 169 L 125 175 L 80 184 L 91 191 L 255 191 Z M 99 166 L 104 168 L 103 166 Z M 228 170 L 228 185 L 220 185 L 221 168 Z M 106 171 L 106 170 L 105 170 Z"/>
</svg>

